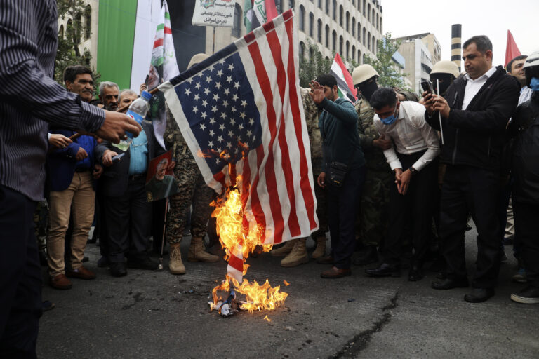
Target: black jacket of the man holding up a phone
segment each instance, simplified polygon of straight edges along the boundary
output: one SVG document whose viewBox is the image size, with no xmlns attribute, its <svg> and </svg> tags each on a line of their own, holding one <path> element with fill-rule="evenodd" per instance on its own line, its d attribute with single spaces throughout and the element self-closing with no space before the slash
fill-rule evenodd
<svg viewBox="0 0 539 359">
<path fill-rule="evenodd" d="M 441 162 L 499 170 L 507 121 L 519 101 L 519 82 L 498 66 L 467 109 L 462 110 L 466 82 L 460 76 L 446 93 L 451 111 L 448 118 L 441 119 L 445 141 Z M 432 116 L 425 113 L 425 118 L 440 130 L 437 112 Z"/>
</svg>

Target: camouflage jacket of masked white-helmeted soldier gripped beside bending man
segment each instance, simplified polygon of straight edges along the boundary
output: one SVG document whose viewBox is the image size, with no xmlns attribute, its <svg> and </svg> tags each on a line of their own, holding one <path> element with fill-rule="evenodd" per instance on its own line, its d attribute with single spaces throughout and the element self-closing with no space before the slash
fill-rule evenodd
<svg viewBox="0 0 539 359">
<path fill-rule="evenodd" d="M 390 170 L 384 156 L 384 152 L 379 147 L 373 145 L 373 140 L 378 140 L 380 134 L 374 127 L 374 110 L 365 97 L 360 97 L 355 106 L 359 123 L 359 140 L 361 149 L 365 155 L 366 166 L 370 170 Z"/>
</svg>

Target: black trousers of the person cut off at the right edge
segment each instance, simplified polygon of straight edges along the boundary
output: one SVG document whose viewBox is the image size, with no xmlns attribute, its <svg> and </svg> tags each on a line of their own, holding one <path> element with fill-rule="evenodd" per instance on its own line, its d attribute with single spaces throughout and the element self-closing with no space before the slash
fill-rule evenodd
<svg viewBox="0 0 539 359">
<path fill-rule="evenodd" d="M 539 204 L 513 201 L 515 238 L 528 284 L 539 287 Z"/>
</svg>

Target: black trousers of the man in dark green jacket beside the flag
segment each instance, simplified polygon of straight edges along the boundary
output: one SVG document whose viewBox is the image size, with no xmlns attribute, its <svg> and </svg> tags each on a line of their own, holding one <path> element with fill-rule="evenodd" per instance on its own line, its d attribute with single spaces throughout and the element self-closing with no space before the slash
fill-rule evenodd
<svg viewBox="0 0 539 359">
<path fill-rule="evenodd" d="M 352 262 L 356 245 L 354 222 L 365 171 L 365 166 L 349 170 L 341 187 L 326 185 L 333 265 L 339 269 L 349 269 Z"/>
</svg>

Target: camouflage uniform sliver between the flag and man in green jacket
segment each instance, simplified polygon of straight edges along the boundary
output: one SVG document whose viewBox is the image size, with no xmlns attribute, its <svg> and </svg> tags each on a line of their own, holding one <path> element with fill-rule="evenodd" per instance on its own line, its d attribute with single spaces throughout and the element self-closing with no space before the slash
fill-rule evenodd
<svg viewBox="0 0 539 359">
<path fill-rule="evenodd" d="M 324 156 L 322 156 L 322 137 L 318 127 L 319 111 L 316 104 L 309 95 L 310 89 L 301 89 L 301 100 L 303 102 L 303 111 L 305 112 L 305 121 L 307 122 L 307 133 L 311 144 L 311 163 L 312 176 L 314 179 L 314 195 L 317 196 L 317 217 L 319 222 L 318 231 L 312 233 L 312 238 L 326 236 L 328 231 L 328 218 L 326 215 L 326 191 L 316 182 L 317 177 L 324 170 Z"/>
</svg>

